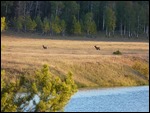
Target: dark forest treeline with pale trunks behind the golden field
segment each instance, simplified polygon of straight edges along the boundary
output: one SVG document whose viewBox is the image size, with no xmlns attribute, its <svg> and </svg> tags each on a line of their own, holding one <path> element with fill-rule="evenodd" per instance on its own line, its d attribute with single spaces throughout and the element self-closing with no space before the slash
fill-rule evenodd
<svg viewBox="0 0 150 113">
<path fill-rule="evenodd" d="M 1 1 L 1 17 L 18 32 L 149 36 L 149 1 Z"/>
</svg>

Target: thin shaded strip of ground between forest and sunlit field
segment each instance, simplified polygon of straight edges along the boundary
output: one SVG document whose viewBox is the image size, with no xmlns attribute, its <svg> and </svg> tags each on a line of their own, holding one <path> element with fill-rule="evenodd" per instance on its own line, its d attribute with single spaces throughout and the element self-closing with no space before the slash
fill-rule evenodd
<svg viewBox="0 0 150 113">
<path fill-rule="evenodd" d="M 25 33 L 25 32 L 14 32 L 14 31 L 5 31 L 1 33 L 1 36 L 9 36 L 12 38 L 27 38 L 27 39 L 51 39 L 51 40 L 71 40 L 71 41 L 106 41 L 106 42 L 148 42 L 149 38 L 146 37 L 121 37 L 111 36 L 106 37 L 105 35 L 65 35 L 65 36 L 51 36 L 51 35 L 42 35 L 39 33 Z"/>
</svg>

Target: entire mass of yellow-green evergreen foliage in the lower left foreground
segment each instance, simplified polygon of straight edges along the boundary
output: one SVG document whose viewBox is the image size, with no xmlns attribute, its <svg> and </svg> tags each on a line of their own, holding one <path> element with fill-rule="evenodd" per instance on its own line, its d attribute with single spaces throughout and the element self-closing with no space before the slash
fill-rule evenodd
<svg viewBox="0 0 150 113">
<path fill-rule="evenodd" d="M 35 79 L 21 76 L 16 83 L 6 84 L 1 71 L 1 112 L 54 112 L 63 111 L 71 96 L 77 91 L 72 74 L 61 80 L 52 76 L 48 65 L 35 72 Z M 39 100 L 35 100 L 37 97 Z"/>
</svg>

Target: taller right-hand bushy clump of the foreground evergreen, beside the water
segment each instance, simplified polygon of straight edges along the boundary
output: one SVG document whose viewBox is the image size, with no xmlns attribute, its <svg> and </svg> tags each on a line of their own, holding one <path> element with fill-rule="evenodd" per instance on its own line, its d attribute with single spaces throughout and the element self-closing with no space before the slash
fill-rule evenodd
<svg viewBox="0 0 150 113">
<path fill-rule="evenodd" d="M 36 72 L 36 80 L 32 84 L 33 92 L 36 93 L 40 101 L 35 103 L 35 111 L 63 111 L 71 95 L 76 92 L 76 85 L 69 73 L 65 81 L 59 77 L 52 77 L 49 67 Z"/>
</svg>

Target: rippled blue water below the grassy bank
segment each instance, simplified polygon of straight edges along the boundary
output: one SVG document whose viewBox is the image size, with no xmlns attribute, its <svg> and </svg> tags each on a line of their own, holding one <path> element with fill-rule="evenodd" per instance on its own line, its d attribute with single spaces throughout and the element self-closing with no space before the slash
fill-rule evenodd
<svg viewBox="0 0 150 113">
<path fill-rule="evenodd" d="M 79 90 L 65 112 L 149 112 L 149 86 Z"/>
</svg>

